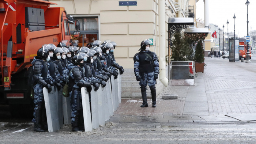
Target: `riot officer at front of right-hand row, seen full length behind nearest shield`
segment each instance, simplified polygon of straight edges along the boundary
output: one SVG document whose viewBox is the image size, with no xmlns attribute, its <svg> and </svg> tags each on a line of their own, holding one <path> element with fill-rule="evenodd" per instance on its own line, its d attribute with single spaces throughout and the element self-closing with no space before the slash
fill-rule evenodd
<svg viewBox="0 0 256 144">
<path fill-rule="evenodd" d="M 76 54 L 72 58 L 72 62 L 68 65 L 70 72 L 69 76 L 69 95 L 71 98 L 71 125 L 72 131 L 84 130 L 83 108 L 81 87 L 87 87 L 91 91 L 91 85 L 84 80 L 84 57 L 81 54 Z"/>
</svg>

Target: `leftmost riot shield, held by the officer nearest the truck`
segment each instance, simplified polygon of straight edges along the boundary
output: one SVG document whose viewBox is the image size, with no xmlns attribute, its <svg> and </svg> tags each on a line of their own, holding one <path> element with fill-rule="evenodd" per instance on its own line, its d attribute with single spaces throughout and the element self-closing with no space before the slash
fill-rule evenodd
<svg viewBox="0 0 256 144">
<path fill-rule="evenodd" d="M 56 104 L 57 90 L 54 91 L 54 87 L 52 87 L 52 91 L 48 93 L 47 88 L 44 87 L 43 94 L 45 99 L 48 131 L 56 132 L 57 130 L 60 130 L 58 107 Z"/>
</svg>

